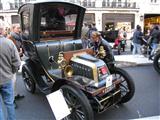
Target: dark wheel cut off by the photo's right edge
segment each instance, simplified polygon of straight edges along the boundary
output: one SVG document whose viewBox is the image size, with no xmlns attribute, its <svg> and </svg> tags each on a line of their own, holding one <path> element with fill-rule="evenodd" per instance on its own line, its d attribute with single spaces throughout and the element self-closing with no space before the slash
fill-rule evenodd
<svg viewBox="0 0 160 120">
<path fill-rule="evenodd" d="M 160 52 L 156 54 L 153 60 L 153 67 L 160 74 L 160 65 L 158 64 L 159 60 L 160 60 Z"/>
</svg>

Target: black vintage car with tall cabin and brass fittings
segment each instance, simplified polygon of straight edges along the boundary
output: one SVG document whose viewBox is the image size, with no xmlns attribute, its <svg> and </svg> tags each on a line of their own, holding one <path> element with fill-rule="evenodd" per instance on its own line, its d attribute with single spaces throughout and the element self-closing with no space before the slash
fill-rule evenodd
<svg viewBox="0 0 160 120">
<path fill-rule="evenodd" d="M 95 112 L 128 102 L 135 86 L 114 63 L 111 51 L 83 49 L 85 8 L 65 1 L 31 2 L 19 8 L 26 89 L 50 94 L 61 89 L 71 114 L 65 119 L 93 120 Z M 106 53 L 105 53 L 106 52 Z M 103 60 L 108 55 L 108 60 Z"/>
</svg>

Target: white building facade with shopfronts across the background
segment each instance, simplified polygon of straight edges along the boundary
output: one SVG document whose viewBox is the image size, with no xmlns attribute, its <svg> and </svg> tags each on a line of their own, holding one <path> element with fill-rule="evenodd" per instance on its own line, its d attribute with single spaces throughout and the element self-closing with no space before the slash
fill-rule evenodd
<svg viewBox="0 0 160 120">
<path fill-rule="evenodd" d="M 17 10 L 31 0 L 0 0 L 0 25 L 19 23 Z M 34 1 L 34 0 L 32 0 Z M 96 23 L 99 31 L 117 30 L 136 25 L 146 29 L 151 24 L 160 24 L 160 0 L 68 0 L 87 8 L 84 21 Z"/>
</svg>

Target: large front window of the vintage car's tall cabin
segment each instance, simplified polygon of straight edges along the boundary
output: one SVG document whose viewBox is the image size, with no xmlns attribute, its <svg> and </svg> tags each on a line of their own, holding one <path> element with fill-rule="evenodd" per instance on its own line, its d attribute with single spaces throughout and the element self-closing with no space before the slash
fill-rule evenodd
<svg viewBox="0 0 160 120">
<path fill-rule="evenodd" d="M 47 9 L 46 9 L 47 8 Z M 70 5 L 41 6 L 40 37 L 73 37 L 78 10 Z"/>
</svg>

